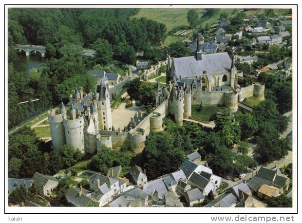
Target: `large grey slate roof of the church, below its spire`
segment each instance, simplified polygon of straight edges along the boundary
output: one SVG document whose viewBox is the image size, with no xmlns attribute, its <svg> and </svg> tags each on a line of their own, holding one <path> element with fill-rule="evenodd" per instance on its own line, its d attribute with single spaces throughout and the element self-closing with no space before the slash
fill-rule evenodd
<svg viewBox="0 0 302 223">
<path fill-rule="evenodd" d="M 174 71 L 177 76 L 195 77 L 207 74 L 218 74 L 230 71 L 232 59 L 227 53 L 205 54 L 201 60 L 194 56 L 173 58 Z"/>
</svg>

